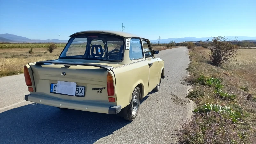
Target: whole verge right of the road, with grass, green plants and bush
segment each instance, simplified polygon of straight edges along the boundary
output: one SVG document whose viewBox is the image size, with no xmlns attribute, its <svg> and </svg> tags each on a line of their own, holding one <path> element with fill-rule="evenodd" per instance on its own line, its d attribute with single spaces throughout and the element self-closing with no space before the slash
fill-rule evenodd
<svg viewBox="0 0 256 144">
<path fill-rule="evenodd" d="M 217 45 L 223 41 L 215 40 Z M 190 76 L 184 79 L 193 85 L 187 97 L 196 108 L 177 143 L 256 143 L 256 49 L 237 51 L 239 45 L 227 45 L 225 40 L 219 46 L 189 49 Z M 235 52 L 235 57 L 215 63 L 214 49 Z"/>
</svg>

